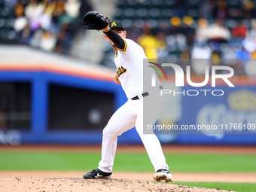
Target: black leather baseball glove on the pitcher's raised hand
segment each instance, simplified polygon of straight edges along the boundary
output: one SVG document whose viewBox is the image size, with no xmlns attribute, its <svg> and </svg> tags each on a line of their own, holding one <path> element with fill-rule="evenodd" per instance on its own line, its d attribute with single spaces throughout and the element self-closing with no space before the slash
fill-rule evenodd
<svg viewBox="0 0 256 192">
<path fill-rule="evenodd" d="M 85 29 L 101 30 L 108 25 L 110 20 L 97 11 L 90 11 L 84 15 L 83 23 Z"/>
</svg>

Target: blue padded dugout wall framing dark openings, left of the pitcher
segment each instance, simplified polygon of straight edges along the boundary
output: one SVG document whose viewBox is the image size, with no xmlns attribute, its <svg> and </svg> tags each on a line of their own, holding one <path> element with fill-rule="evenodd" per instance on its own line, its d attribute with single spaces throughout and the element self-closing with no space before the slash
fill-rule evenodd
<svg viewBox="0 0 256 192">
<path fill-rule="evenodd" d="M 113 93 L 115 109 L 126 102 L 126 96 L 120 86 L 90 78 L 78 78 L 51 72 L 0 72 L 1 82 L 31 83 L 31 129 L 30 131 L 20 131 L 19 134 L 14 135 L 14 137 L 17 137 L 16 140 L 20 140 L 17 143 L 21 142 L 22 144 L 100 144 L 102 141 L 102 130 L 87 130 L 84 132 L 55 130 L 49 132 L 47 127 L 49 84 L 99 91 L 99 94 Z M 13 130 L 11 132 L 13 133 Z M 6 138 L 11 134 L 1 132 L 0 142 L 8 144 L 8 141 L 4 141 L 3 134 Z M 126 133 L 127 137 L 123 139 L 123 142 L 134 142 L 134 136 L 131 136 L 131 134 Z"/>
</svg>

